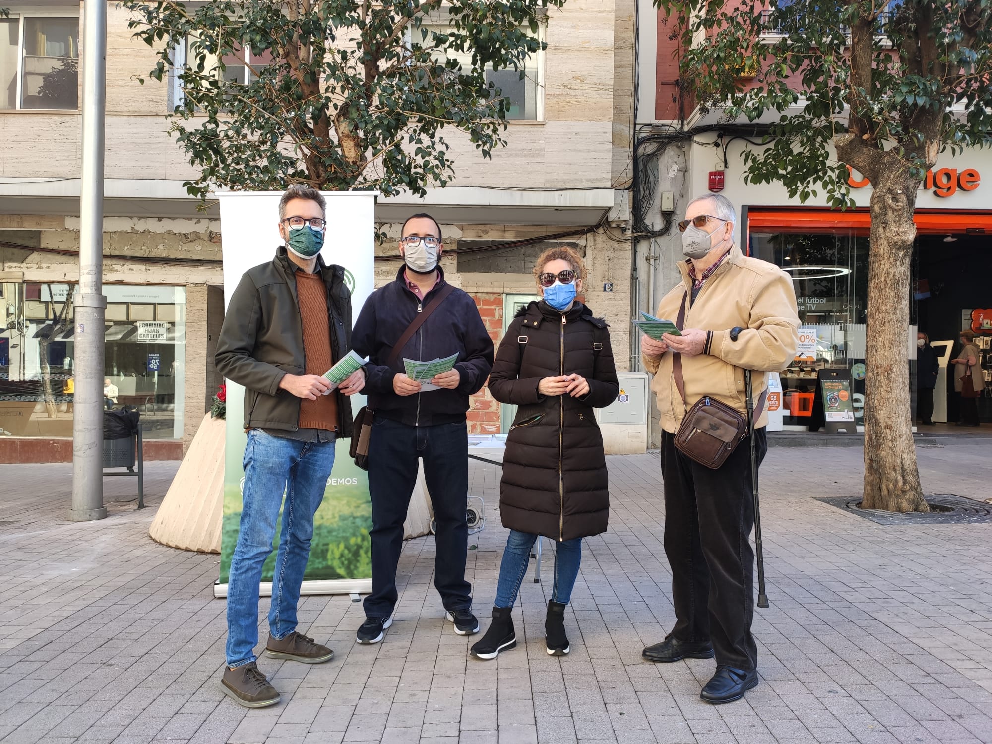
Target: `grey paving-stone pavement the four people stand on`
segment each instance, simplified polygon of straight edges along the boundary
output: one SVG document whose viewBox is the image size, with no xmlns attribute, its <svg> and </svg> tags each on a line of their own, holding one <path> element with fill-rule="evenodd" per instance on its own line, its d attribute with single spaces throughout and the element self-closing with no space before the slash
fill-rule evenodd
<svg viewBox="0 0 992 744">
<path fill-rule="evenodd" d="M 921 448 L 925 490 L 988 498 L 988 454 Z M 443 620 L 422 538 L 405 547 L 386 640 L 355 645 L 363 615 L 348 597 L 305 597 L 301 630 L 336 656 L 263 658 L 283 701 L 252 711 L 218 688 L 218 558 L 148 537 L 176 466 L 149 463 L 143 512 L 130 481 L 106 481 L 111 516 L 86 524 L 64 521 L 70 466 L 0 466 L 0 742 L 992 742 L 992 524 L 883 527 L 816 501 L 857 494 L 859 449 L 770 451 L 762 680 L 715 707 L 698 698 L 711 660 L 641 659 L 673 622 L 657 453 L 609 458 L 610 530 L 586 542 L 569 656 L 543 645 L 550 544 L 542 583 L 529 576 L 515 610 L 526 643 L 479 662 L 475 639 Z M 506 531 L 498 468 L 473 461 L 471 473 L 486 500 L 468 560 L 485 627 Z M 263 599 L 260 623 L 267 610 Z"/>
</svg>

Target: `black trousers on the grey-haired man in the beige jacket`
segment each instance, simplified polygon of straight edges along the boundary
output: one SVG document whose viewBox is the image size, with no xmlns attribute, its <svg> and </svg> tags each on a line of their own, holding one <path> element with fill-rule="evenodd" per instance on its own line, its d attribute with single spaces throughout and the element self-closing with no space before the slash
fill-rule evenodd
<svg viewBox="0 0 992 744">
<path fill-rule="evenodd" d="M 768 450 L 765 429 L 755 431 L 757 461 Z M 737 445 L 717 470 L 676 449 L 662 433 L 665 481 L 665 554 L 672 566 L 672 598 L 680 641 L 710 641 L 716 663 L 753 670 L 758 648 L 754 619 L 754 528 L 751 444 Z"/>
</svg>

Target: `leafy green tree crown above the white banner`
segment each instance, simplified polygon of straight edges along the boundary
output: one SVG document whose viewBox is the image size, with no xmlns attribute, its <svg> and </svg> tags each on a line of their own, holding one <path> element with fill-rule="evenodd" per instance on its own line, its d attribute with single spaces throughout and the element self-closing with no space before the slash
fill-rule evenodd
<svg viewBox="0 0 992 744">
<path fill-rule="evenodd" d="M 424 195 L 453 177 L 445 128 L 483 157 L 506 144 L 511 101 L 487 72 L 526 72 L 539 23 L 564 0 L 125 0 L 176 75 L 172 132 L 214 187 L 376 188 Z M 243 73 L 247 70 L 247 73 Z M 144 80 L 142 80 L 144 82 Z"/>
</svg>

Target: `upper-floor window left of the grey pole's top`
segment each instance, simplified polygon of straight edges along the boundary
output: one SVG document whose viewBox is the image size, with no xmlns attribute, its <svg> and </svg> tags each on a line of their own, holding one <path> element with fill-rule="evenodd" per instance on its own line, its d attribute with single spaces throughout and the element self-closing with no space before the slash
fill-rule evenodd
<svg viewBox="0 0 992 744">
<path fill-rule="evenodd" d="M 78 108 L 79 19 L 0 19 L 0 109 Z"/>
</svg>

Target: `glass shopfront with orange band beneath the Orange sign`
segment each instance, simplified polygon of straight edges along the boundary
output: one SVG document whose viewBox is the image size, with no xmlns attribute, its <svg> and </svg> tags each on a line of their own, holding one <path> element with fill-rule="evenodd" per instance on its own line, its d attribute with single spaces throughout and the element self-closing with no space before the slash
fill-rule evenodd
<svg viewBox="0 0 992 744">
<path fill-rule="evenodd" d="M 934 188 L 946 181 L 934 175 Z M 965 186 L 971 186 L 968 181 Z M 853 415 L 860 428 L 865 400 L 865 335 L 868 302 L 870 217 L 866 210 L 750 207 L 750 255 L 770 261 L 793 277 L 801 321 L 796 358 L 782 373 L 783 424 L 786 429 L 818 431 L 831 420 Z M 963 348 L 960 334 L 971 329 L 979 349 L 982 377 L 992 382 L 992 360 L 984 351 L 992 338 L 992 216 L 987 213 L 918 211 L 912 296 L 907 326 L 907 374 L 916 419 L 918 400 L 917 334 L 941 349 L 934 388 L 932 420 L 960 418 L 960 366 L 948 362 Z M 944 351 L 949 349 L 949 351 Z M 984 365 L 988 365 L 988 368 Z M 819 389 L 824 369 L 849 373 L 849 401 L 840 391 Z M 924 383 L 926 384 L 926 382 Z M 829 397 L 829 393 L 835 395 Z M 829 397 L 829 400 L 827 398 Z M 843 404 L 843 405 L 839 405 Z M 979 419 L 992 421 L 992 392 L 978 392 Z"/>
</svg>

